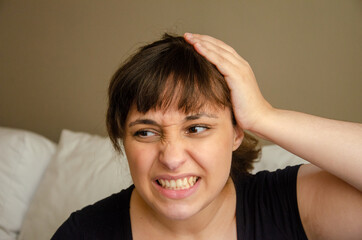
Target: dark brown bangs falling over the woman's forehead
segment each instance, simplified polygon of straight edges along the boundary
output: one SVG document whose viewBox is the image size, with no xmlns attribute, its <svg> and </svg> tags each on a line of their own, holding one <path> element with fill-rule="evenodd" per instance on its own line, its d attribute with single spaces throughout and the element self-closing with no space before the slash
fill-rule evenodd
<svg viewBox="0 0 362 240">
<path fill-rule="evenodd" d="M 197 112 L 205 105 L 231 107 L 223 76 L 191 45 L 163 50 L 148 65 L 148 77 L 138 80 L 134 104 L 139 112 L 167 110 L 170 106 L 185 113 Z"/>
</svg>

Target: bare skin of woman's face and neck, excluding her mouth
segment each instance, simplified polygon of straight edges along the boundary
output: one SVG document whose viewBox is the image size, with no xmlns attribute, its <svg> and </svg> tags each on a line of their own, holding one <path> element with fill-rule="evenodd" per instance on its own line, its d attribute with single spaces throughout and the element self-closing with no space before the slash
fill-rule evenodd
<svg viewBox="0 0 362 240">
<path fill-rule="evenodd" d="M 186 115 L 175 107 L 145 114 L 133 107 L 123 143 L 136 186 L 130 211 L 134 238 L 236 238 L 229 171 L 242 139 L 228 108 Z M 190 196 L 172 199 L 158 191 L 160 176 L 197 176 L 198 186 Z"/>
</svg>

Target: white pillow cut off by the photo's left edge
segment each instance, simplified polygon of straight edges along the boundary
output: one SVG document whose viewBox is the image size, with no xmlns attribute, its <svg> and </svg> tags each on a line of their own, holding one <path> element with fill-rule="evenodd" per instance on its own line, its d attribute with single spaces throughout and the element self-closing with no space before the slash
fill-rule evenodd
<svg viewBox="0 0 362 240">
<path fill-rule="evenodd" d="M 55 149 L 38 134 L 0 127 L 0 239 L 16 239 Z"/>
</svg>

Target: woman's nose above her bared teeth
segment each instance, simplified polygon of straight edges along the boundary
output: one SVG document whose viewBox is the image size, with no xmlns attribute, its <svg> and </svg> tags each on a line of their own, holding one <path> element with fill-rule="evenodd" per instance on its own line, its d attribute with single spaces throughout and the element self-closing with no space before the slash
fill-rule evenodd
<svg viewBox="0 0 362 240">
<path fill-rule="evenodd" d="M 160 163 L 171 171 L 177 170 L 186 161 L 186 151 L 181 141 L 165 142 L 159 154 Z"/>
</svg>

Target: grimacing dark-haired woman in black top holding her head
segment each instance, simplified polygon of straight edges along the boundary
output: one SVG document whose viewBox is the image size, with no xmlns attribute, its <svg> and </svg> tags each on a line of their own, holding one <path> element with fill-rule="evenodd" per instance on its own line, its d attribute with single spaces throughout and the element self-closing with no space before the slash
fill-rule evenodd
<svg viewBox="0 0 362 240">
<path fill-rule="evenodd" d="M 217 39 L 141 48 L 111 81 L 107 127 L 134 185 L 53 239 L 361 239 L 361 124 L 273 108 Z M 258 149 L 244 130 L 312 164 L 250 175 Z"/>
</svg>

